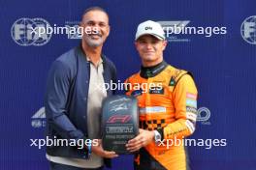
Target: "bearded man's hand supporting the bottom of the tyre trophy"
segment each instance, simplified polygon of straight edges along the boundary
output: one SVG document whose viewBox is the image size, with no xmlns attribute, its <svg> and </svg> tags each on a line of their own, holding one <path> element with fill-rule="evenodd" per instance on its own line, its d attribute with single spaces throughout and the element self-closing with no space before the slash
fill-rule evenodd
<svg viewBox="0 0 256 170">
<path fill-rule="evenodd" d="M 98 140 L 99 143 L 97 146 L 91 146 L 91 151 L 96 154 L 97 156 L 105 157 L 105 158 L 113 158 L 117 157 L 118 155 L 115 154 L 113 151 L 105 151 L 102 148 L 102 140 Z"/>
</svg>

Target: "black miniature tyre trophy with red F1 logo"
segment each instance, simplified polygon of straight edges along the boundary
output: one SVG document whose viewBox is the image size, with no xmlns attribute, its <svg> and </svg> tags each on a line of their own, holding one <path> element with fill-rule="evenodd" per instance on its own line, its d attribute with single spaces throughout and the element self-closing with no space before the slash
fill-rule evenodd
<svg viewBox="0 0 256 170">
<path fill-rule="evenodd" d="M 103 148 L 116 154 L 130 154 L 125 144 L 139 133 L 137 99 L 112 96 L 103 102 Z"/>
</svg>

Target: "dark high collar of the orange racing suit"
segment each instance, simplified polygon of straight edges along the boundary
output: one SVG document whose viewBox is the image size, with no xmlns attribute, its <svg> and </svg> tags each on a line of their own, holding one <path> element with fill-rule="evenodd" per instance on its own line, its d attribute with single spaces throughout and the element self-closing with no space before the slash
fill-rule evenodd
<svg viewBox="0 0 256 170">
<path fill-rule="evenodd" d="M 157 75 L 159 72 L 163 71 L 168 64 L 165 61 L 162 61 L 161 63 L 152 66 L 152 67 L 141 67 L 140 75 L 143 78 L 149 78 Z"/>
</svg>

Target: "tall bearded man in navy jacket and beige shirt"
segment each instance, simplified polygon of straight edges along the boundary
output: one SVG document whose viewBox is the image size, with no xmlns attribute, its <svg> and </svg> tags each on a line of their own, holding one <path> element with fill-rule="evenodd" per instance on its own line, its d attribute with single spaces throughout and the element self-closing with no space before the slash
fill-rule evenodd
<svg viewBox="0 0 256 170">
<path fill-rule="evenodd" d="M 47 136 L 62 141 L 47 147 L 52 170 L 102 169 L 110 166 L 108 158 L 117 156 L 104 151 L 100 140 L 102 100 L 113 94 L 103 87 L 116 82 L 115 67 L 102 54 L 110 34 L 109 15 L 99 7 L 89 8 L 80 26 L 80 46 L 57 58 L 48 74 Z"/>
</svg>

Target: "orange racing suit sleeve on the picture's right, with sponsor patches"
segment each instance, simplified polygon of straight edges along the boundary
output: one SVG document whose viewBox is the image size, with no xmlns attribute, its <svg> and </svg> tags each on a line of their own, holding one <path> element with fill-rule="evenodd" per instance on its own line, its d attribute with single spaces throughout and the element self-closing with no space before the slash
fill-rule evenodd
<svg viewBox="0 0 256 170">
<path fill-rule="evenodd" d="M 176 82 L 172 94 L 176 121 L 161 129 L 162 138 L 182 138 L 194 132 L 197 119 L 197 95 L 197 88 L 191 75 L 182 75 Z"/>
</svg>

